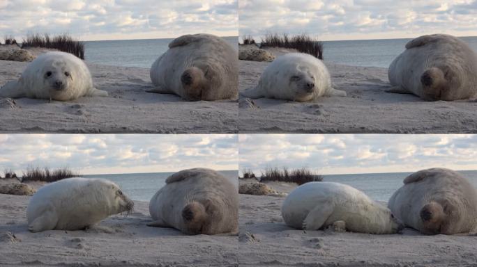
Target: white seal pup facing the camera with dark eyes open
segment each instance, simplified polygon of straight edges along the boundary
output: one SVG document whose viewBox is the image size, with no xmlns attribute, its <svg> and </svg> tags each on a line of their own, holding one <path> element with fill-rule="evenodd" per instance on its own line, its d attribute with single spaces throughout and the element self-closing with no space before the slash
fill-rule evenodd
<svg viewBox="0 0 477 267">
<path fill-rule="evenodd" d="M 38 56 L 18 81 L 0 88 L 0 97 L 68 101 L 84 96 L 107 97 L 107 92 L 93 87 L 91 73 L 83 60 L 59 51 Z"/>
</svg>

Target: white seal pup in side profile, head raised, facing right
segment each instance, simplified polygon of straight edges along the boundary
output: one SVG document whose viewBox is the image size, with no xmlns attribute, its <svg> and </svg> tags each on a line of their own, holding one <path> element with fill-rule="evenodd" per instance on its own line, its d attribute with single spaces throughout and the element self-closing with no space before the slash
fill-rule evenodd
<svg viewBox="0 0 477 267">
<path fill-rule="evenodd" d="M 68 178 L 41 187 L 27 207 L 28 229 L 79 230 L 131 211 L 134 202 L 105 179 Z"/>
</svg>

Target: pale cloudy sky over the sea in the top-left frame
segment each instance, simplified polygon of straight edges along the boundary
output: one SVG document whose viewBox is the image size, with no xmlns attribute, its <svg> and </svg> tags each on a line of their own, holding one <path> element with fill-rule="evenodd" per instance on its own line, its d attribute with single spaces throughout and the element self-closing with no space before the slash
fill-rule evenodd
<svg viewBox="0 0 477 267">
<path fill-rule="evenodd" d="M 0 38 L 70 33 L 82 40 L 236 36 L 238 0 L 0 0 Z"/>
</svg>

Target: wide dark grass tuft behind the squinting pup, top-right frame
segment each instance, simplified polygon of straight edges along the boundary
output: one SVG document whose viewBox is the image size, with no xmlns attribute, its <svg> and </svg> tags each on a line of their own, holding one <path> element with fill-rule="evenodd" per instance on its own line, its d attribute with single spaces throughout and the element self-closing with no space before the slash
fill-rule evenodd
<svg viewBox="0 0 477 267">
<path fill-rule="evenodd" d="M 268 33 L 262 38 L 260 48 L 264 47 L 284 47 L 288 49 L 296 49 L 301 53 L 310 54 L 323 60 L 323 42 L 310 35 L 302 33 L 289 37 L 287 33 L 278 35 L 277 33 Z"/>
</svg>

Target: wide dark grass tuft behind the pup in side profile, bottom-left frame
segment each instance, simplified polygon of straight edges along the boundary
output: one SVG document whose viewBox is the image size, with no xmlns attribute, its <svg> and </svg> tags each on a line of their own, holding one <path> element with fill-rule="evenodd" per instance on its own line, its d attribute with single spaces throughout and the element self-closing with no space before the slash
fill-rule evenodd
<svg viewBox="0 0 477 267">
<path fill-rule="evenodd" d="M 50 170 L 50 168 L 28 167 L 23 172 L 22 181 L 58 181 L 70 177 L 79 177 L 80 175 L 72 170 L 63 167 Z"/>
</svg>

